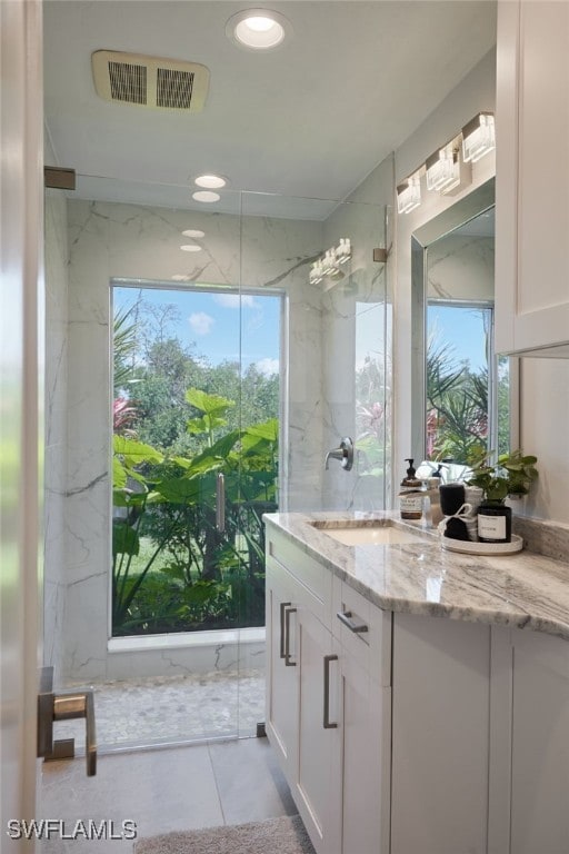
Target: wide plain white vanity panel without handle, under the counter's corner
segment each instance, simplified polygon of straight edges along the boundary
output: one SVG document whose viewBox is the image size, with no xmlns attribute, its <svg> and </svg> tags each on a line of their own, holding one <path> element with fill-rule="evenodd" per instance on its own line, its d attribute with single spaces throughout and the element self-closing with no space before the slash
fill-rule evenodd
<svg viewBox="0 0 569 854">
<path fill-rule="evenodd" d="M 486 854 L 489 626 L 395 614 L 392 698 L 391 854 Z"/>
</svg>

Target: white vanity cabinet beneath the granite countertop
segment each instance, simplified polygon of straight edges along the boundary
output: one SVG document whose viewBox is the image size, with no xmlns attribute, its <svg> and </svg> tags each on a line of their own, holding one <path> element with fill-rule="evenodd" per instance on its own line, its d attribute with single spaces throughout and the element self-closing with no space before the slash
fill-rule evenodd
<svg viewBox="0 0 569 854">
<path fill-rule="evenodd" d="M 267 734 L 318 854 L 569 852 L 569 640 L 462 608 L 382 610 L 268 526 Z"/>
</svg>

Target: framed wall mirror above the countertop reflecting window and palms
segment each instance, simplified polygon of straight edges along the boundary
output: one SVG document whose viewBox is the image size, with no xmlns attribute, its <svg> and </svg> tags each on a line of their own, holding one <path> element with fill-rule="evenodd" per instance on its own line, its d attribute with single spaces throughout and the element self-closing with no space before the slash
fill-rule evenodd
<svg viewBox="0 0 569 854">
<path fill-rule="evenodd" d="M 497 356 L 495 179 L 411 236 L 412 448 L 468 465 L 510 448 L 515 360 Z"/>
</svg>

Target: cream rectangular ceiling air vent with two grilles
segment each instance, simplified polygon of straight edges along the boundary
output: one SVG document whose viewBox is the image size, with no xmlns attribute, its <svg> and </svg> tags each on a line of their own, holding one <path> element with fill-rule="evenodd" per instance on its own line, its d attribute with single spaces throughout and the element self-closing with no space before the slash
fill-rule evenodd
<svg viewBox="0 0 569 854">
<path fill-rule="evenodd" d="M 209 70 L 197 62 L 97 50 L 91 56 L 94 88 L 106 101 L 200 112 Z"/>
</svg>

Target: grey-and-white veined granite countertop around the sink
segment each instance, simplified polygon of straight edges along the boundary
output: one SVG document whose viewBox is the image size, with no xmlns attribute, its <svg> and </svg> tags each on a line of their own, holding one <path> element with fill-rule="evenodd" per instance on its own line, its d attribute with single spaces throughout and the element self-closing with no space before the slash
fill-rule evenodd
<svg viewBox="0 0 569 854">
<path fill-rule="evenodd" d="M 569 640 L 567 560 L 526 549 L 491 557 L 448 552 L 436 532 L 389 512 L 273 513 L 263 518 L 383 610 L 528 628 Z M 321 527 L 388 520 L 420 533 L 421 540 L 347 546 Z"/>
</svg>

